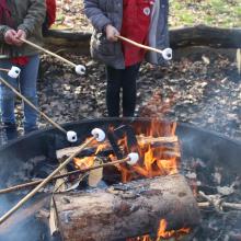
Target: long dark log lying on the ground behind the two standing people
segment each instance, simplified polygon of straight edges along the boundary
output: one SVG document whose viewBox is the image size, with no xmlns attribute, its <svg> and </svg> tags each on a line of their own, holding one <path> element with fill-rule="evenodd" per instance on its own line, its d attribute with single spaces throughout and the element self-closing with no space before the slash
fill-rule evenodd
<svg viewBox="0 0 241 241">
<path fill-rule="evenodd" d="M 91 32 L 50 30 L 45 36 L 48 48 L 90 54 Z M 190 46 L 213 48 L 241 48 L 241 28 L 219 28 L 206 25 L 170 30 L 170 44 L 173 49 Z"/>
</svg>

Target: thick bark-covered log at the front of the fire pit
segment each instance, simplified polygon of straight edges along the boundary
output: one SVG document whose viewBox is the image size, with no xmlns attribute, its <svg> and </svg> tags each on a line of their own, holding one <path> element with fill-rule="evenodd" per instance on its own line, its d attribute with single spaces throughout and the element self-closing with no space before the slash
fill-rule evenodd
<svg viewBox="0 0 241 241">
<path fill-rule="evenodd" d="M 68 241 L 113 241 L 157 233 L 161 219 L 168 230 L 194 228 L 199 210 L 180 175 L 138 180 L 107 190 L 55 196 L 60 232 Z"/>
</svg>

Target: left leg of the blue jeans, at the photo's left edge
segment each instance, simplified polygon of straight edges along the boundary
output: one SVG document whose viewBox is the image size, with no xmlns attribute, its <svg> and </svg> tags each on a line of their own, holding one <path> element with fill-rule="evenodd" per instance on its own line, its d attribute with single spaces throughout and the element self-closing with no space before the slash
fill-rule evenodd
<svg viewBox="0 0 241 241">
<path fill-rule="evenodd" d="M 9 59 L 0 60 L 0 68 L 11 69 L 12 64 Z M 18 80 L 8 76 L 8 72 L 0 71 L 2 79 L 8 81 L 12 87 L 18 89 Z M 15 124 L 14 116 L 15 94 L 3 83 L 0 83 L 0 103 L 1 103 L 1 118 L 3 123 Z"/>
</svg>

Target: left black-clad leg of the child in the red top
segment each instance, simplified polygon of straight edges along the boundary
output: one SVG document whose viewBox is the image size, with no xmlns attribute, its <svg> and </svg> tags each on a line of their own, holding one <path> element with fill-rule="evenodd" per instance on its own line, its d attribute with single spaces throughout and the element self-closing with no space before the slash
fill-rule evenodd
<svg viewBox="0 0 241 241">
<path fill-rule="evenodd" d="M 120 77 L 122 71 L 106 66 L 107 90 L 106 90 L 106 105 L 108 116 L 119 116 L 119 92 L 120 92 Z"/>
</svg>

